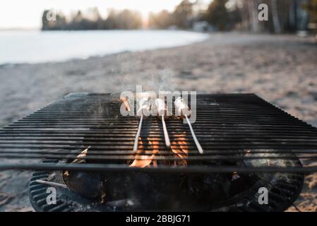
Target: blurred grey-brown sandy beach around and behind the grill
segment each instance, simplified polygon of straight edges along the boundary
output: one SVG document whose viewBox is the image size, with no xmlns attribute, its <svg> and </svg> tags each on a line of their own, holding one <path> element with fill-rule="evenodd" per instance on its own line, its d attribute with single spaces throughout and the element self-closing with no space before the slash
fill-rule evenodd
<svg viewBox="0 0 317 226">
<path fill-rule="evenodd" d="M 0 127 L 68 93 L 121 92 L 136 85 L 149 90 L 256 93 L 317 126 L 317 44 L 310 37 L 218 33 L 183 47 L 0 65 L 0 80 Z M 0 172 L 0 211 L 32 211 L 30 174 Z M 306 177 L 296 204 L 300 210 L 317 210 L 317 174 Z"/>
</svg>

